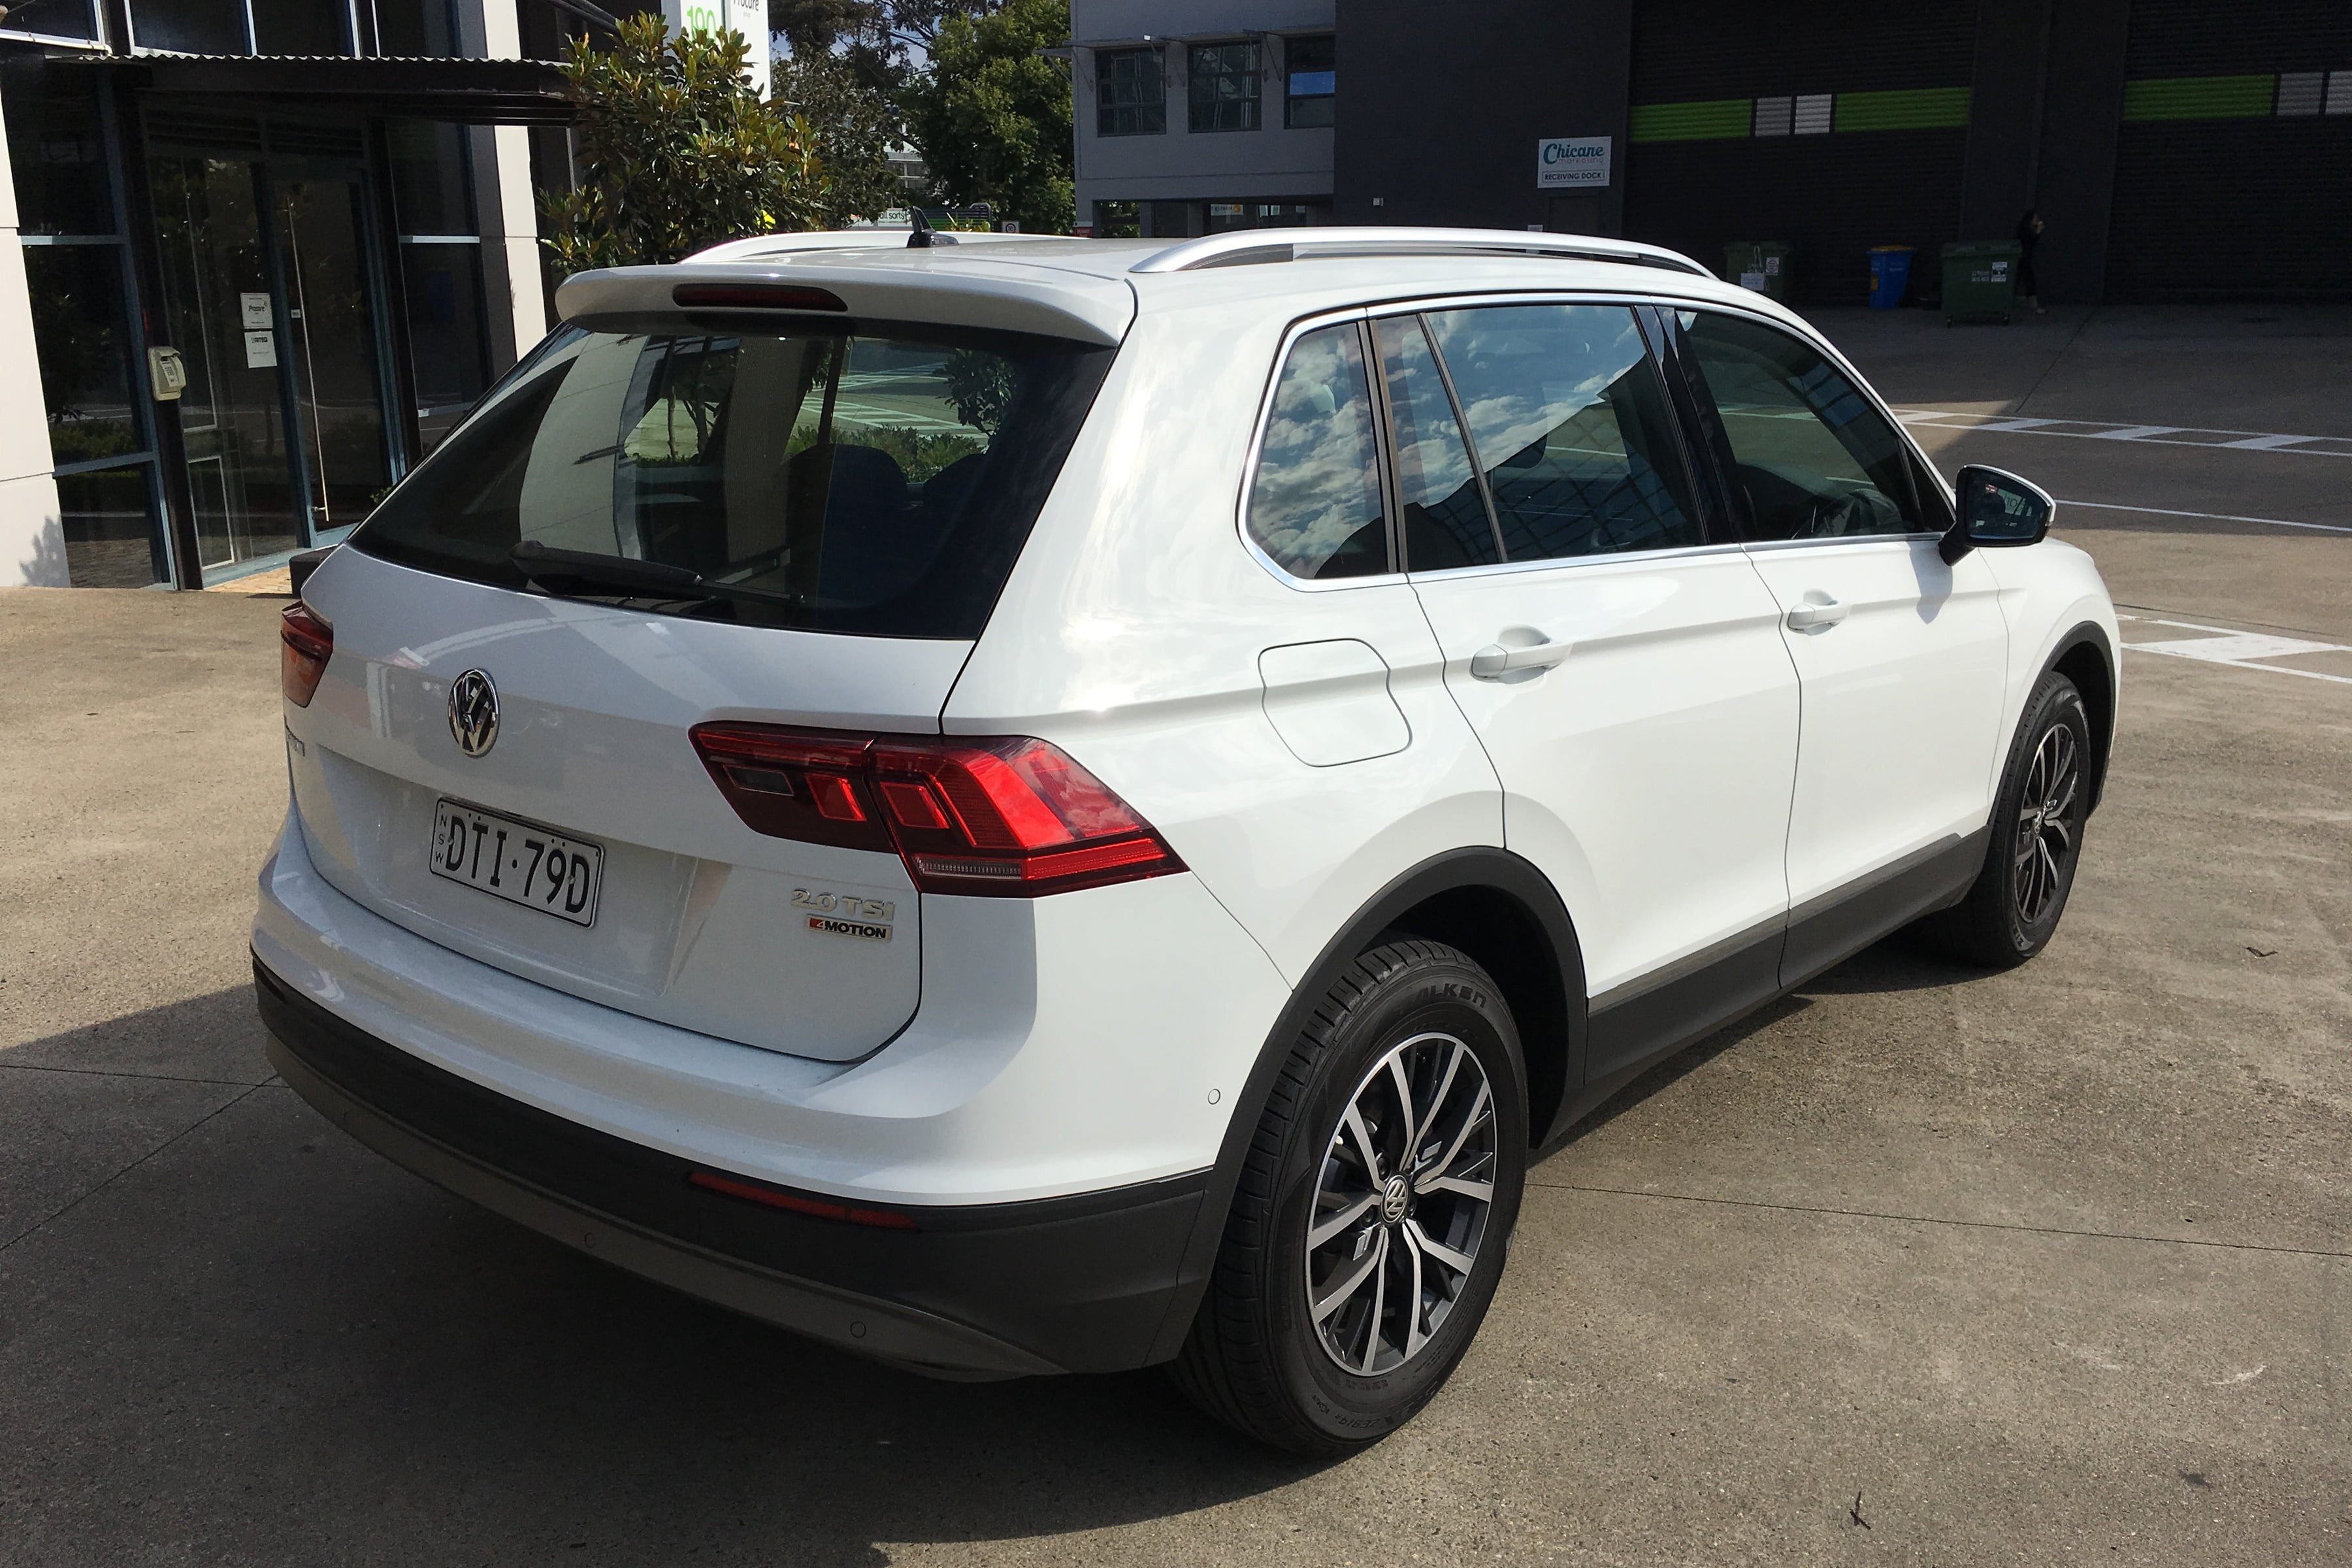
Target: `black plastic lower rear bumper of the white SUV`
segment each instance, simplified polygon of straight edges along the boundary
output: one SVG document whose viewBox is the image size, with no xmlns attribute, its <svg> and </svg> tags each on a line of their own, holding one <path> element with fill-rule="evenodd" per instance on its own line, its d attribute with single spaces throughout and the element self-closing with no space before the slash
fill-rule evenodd
<svg viewBox="0 0 2352 1568">
<path fill-rule="evenodd" d="M 376 1039 L 259 957 L 254 992 L 278 1072 L 353 1138 L 689 1295 L 950 1378 L 1122 1371 L 1181 1338 L 1167 1316 L 1190 1298 L 1181 1274 L 1204 1171 L 1080 1197 L 896 1211 L 913 1229 L 788 1213 L 689 1185 L 710 1166 Z"/>
</svg>

